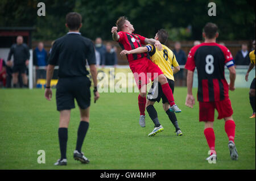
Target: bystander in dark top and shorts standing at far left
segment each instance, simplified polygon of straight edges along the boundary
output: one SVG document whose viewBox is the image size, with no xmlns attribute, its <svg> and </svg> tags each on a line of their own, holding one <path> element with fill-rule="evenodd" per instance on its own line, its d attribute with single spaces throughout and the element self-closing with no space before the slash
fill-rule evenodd
<svg viewBox="0 0 256 181">
<path fill-rule="evenodd" d="M 22 75 L 23 86 L 28 87 L 26 68 L 29 63 L 30 52 L 26 44 L 23 43 L 23 37 L 18 36 L 16 44 L 13 44 L 10 48 L 10 52 L 7 58 L 7 66 L 11 66 L 11 56 L 14 56 L 13 66 L 13 86 L 17 87 L 18 76 Z M 20 87 L 23 87 L 20 85 Z"/>
</svg>

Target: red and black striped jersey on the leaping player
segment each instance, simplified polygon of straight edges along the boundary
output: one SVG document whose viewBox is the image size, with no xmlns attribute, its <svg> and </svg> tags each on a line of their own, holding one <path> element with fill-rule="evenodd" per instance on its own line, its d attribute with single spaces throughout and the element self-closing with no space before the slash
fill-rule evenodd
<svg viewBox="0 0 256 181">
<path fill-rule="evenodd" d="M 143 45 L 145 44 L 144 40 L 146 38 L 141 35 L 123 32 L 123 31 L 119 31 L 118 35 L 119 35 L 118 43 L 121 46 L 121 48 L 125 49 L 125 50 L 136 49 L 138 47 L 141 47 L 141 44 L 143 44 Z M 143 57 L 149 58 L 148 53 L 127 54 L 126 56 L 127 56 L 129 63 L 131 61 L 137 60 L 139 58 L 143 58 Z"/>
</svg>

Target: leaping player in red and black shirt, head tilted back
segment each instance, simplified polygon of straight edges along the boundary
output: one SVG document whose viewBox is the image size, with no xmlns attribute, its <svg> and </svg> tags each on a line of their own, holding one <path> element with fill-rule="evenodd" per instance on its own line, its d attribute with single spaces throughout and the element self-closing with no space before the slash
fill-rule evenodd
<svg viewBox="0 0 256 181">
<path fill-rule="evenodd" d="M 162 50 L 162 45 L 155 39 L 147 39 L 141 35 L 134 34 L 133 24 L 125 16 L 121 16 L 116 23 L 117 27 L 112 27 L 113 40 L 118 41 L 122 49 L 132 50 L 141 47 L 141 44 L 155 45 L 155 48 Z M 119 30 L 119 32 L 117 32 Z M 163 93 L 166 95 L 168 102 L 170 103 L 170 111 L 181 112 L 174 102 L 174 96 L 172 90 L 168 85 L 167 79 L 159 69 L 148 57 L 147 53 L 127 54 L 130 69 L 133 71 L 135 82 L 139 89 L 138 104 L 139 111 L 141 113 L 140 125 L 145 126 L 144 115 L 146 106 L 146 85 L 149 83 L 148 78 L 153 81 L 158 78 L 158 82 L 161 84 Z"/>
</svg>

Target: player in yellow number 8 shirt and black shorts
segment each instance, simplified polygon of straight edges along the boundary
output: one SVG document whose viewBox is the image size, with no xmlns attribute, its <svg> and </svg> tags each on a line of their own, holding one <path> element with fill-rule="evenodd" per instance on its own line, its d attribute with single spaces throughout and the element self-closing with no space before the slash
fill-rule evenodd
<svg viewBox="0 0 256 181">
<path fill-rule="evenodd" d="M 177 63 L 176 57 L 172 52 L 172 50 L 170 50 L 168 47 L 166 47 L 166 45 L 164 45 L 167 42 L 167 39 L 168 39 L 168 32 L 162 29 L 162 30 L 159 30 L 155 35 L 155 40 L 160 41 L 160 43 L 162 44 L 162 47 L 163 47 L 162 50 L 159 51 L 154 46 L 147 45 L 146 47 L 139 47 L 137 49 L 133 49 L 129 51 L 122 50 L 120 54 L 125 55 L 125 54 L 148 52 L 148 54 L 150 55 L 151 61 L 154 62 L 156 65 L 158 65 L 158 67 L 162 70 L 163 74 L 166 75 L 168 84 L 171 87 L 172 93 L 174 93 L 174 74 L 180 70 L 180 67 L 179 67 L 179 64 Z M 158 120 L 158 113 L 154 108 L 154 103 L 156 101 L 160 102 L 161 98 L 163 102 L 163 109 L 164 111 L 166 111 L 169 119 L 174 125 L 177 136 L 181 136 L 182 132 L 177 123 L 176 115 L 174 112 L 170 111 L 170 104 L 168 103 L 166 96 L 163 94 L 161 86 L 159 85 L 158 82 L 152 83 L 151 89 L 147 95 L 146 110 L 151 120 L 155 124 L 155 128 L 150 134 L 148 134 L 148 136 L 155 136 L 156 133 L 160 133 L 163 131 L 163 127 Z"/>
</svg>

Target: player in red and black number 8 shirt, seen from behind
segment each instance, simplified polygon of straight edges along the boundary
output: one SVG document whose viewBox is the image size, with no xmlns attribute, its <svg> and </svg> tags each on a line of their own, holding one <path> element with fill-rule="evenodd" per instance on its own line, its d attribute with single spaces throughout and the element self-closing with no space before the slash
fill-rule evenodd
<svg viewBox="0 0 256 181">
<path fill-rule="evenodd" d="M 238 159 L 236 146 L 234 144 L 236 124 L 233 120 L 233 110 L 229 99 L 229 90 L 234 90 L 236 70 L 232 54 L 229 49 L 216 43 L 218 37 L 217 26 L 207 23 L 204 27 L 204 43 L 193 47 L 189 54 L 185 68 L 188 70 L 187 87 L 188 94 L 186 106 L 193 108 L 195 98 L 192 95 L 193 71 L 197 69 L 199 101 L 199 121 L 205 122 L 204 134 L 210 148 L 210 157 L 216 158 L 215 136 L 213 131 L 214 109 L 218 111 L 218 119 L 225 120 L 225 131 L 228 134 L 230 157 Z M 225 66 L 230 72 L 230 84 L 226 82 Z"/>
</svg>

